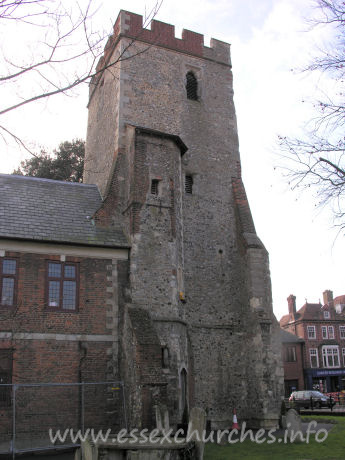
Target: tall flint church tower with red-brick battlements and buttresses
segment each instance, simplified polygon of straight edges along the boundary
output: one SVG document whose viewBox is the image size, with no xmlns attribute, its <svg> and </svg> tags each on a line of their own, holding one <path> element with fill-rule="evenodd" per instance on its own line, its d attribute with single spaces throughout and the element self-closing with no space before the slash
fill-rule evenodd
<svg viewBox="0 0 345 460">
<path fill-rule="evenodd" d="M 283 371 L 268 254 L 241 179 L 230 46 L 121 11 L 90 85 L 84 179 L 131 245 L 114 362 L 131 426 L 155 404 L 212 428 L 276 424 Z M 105 70 L 102 70 L 105 69 Z"/>
</svg>

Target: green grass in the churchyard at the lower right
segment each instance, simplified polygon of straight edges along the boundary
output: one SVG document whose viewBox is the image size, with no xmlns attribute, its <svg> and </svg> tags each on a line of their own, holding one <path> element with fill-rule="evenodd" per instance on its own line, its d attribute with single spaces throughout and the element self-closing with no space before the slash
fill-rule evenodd
<svg viewBox="0 0 345 460">
<path fill-rule="evenodd" d="M 249 439 L 236 444 L 217 445 L 209 443 L 205 446 L 204 460 L 337 460 L 345 459 L 345 417 L 302 417 L 303 422 L 315 420 L 317 423 L 333 423 L 325 441 L 318 443 L 315 435 L 310 436 L 309 444 L 280 443 L 257 444 Z M 267 433 L 266 439 L 269 439 Z M 322 436 L 320 435 L 322 438 Z"/>
</svg>

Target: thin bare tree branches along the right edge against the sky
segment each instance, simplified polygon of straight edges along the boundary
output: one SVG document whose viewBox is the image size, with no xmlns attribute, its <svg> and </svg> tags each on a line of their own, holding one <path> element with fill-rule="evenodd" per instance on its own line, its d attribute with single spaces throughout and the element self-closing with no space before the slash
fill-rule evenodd
<svg viewBox="0 0 345 460">
<path fill-rule="evenodd" d="M 278 137 L 283 168 L 292 189 L 313 188 L 317 204 L 332 209 L 336 224 L 345 228 L 345 2 L 314 0 L 321 16 L 312 19 L 314 27 L 337 30 L 331 51 L 321 54 L 303 71 L 321 72 L 334 81 L 335 91 L 325 91 L 313 105 L 316 116 L 309 120 L 303 138 Z"/>
</svg>

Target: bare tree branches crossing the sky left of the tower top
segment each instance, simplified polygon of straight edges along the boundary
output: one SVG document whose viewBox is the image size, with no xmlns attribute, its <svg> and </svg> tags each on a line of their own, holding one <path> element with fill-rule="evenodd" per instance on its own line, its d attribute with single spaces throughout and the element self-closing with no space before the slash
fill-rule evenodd
<svg viewBox="0 0 345 460">
<path fill-rule="evenodd" d="M 116 59 L 99 65 L 109 34 L 92 31 L 91 21 L 95 13 L 91 8 L 92 1 L 89 0 L 85 8 L 79 4 L 75 8 L 76 4 L 57 4 L 55 0 L 0 0 L 0 24 L 8 20 L 16 21 L 22 27 L 34 26 L 33 30 L 39 33 L 31 57 L 30 53 L 23 54 L 23 62 L 20 62 L 18 57 L 4 56 L 0 90 L 6 91 L 6 96 L 12 91 L 13 97 L 10 103 L 6 102 L 8 97 L 0 97 L 0 115 L 57 94 L 70 95 L 79 85 L 97 83 L 103 72 L 111 71 L 119 62 L 146 52 L 149 46 L 144 51 L 130 52 L 135 41 L 140 39 L 139 33 Z M 162 0 L 157 0 L 145 18 L 143 28 L 156 16 L 161 3 Z M 40 19 L 34 23 L 36 17 Z M 73 66 L 70 66 L 71 63 Z M 14 94 L 14 91 L 18 94 Z M 4 122 L 0 129 L 2 136 L 8 135 L 24 146 L 20 136 L 6 128 Z M 28 147 L 24 148 L 30 151 Z"/>
</svg>

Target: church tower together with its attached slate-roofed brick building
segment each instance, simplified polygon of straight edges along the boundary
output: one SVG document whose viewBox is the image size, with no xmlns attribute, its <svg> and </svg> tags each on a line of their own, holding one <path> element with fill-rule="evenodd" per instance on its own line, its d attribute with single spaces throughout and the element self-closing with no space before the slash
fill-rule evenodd
<svg viewBox="0 0 345 460">
<path fill-rule="evenodd" d="M 12 380 L 78 381 L 80 366 L 122 380 L 132 427 L 153 426 L 159 403 L 175 425 L 192 406 L 214 428 L 234 407 L 275 425 L 280 329 L 241 178 L 230 47 L 121 11 L 98 68 L 119 56 L 90 85 L 85 183 L 0 177 Z"/>
</svg>

